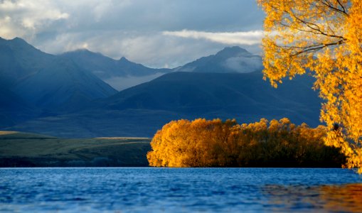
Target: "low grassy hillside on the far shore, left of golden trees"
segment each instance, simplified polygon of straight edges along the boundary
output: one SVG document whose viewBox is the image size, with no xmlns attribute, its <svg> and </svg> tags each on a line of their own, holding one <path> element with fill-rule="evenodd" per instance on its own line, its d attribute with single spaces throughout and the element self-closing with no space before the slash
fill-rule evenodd
<svg viewBox="0 0 362 213">
<path fill-rule="evenodd" d="M 147 166 L 150 141 L 150 138 L 63 139 L 0 131 L 0 166 Z"/>
</svg>

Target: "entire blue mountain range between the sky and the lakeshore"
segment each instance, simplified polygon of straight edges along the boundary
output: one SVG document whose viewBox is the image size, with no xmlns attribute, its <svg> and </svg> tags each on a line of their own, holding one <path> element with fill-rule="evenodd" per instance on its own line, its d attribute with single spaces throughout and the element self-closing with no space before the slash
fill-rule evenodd
<svg viewBox="0 0 362 213">
<path fill-rule="evenodd" d="M 173 119 L 261 118 L 319 124 L 308 76 L 277 89 L 262 58 L 239 47 L 174 69 L 145 67 L 89 50 L 50 55 L 0 38 L 0 128 L 52 136 L 153 136 Z M 119 91 L 120 90 L 120 91 Z"/>
</svg>

